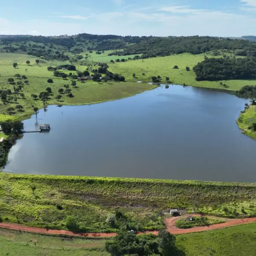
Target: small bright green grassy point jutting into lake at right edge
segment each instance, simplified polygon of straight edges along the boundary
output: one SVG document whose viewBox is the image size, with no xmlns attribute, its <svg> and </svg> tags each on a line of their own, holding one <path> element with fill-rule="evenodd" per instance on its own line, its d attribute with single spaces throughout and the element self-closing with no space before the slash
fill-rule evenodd
<svg viewBox="0 0 256 256">
<path fill-rule="evenodd" d="M 256 139 L 256 134 L 252 129 L 249 127 L 256 122 L 256 106 L 250 105 L 244 113 L 241 113 L 239 118 L 236 120 L 239 128 L 242 130 L 243 134 Z"/>
</svg>

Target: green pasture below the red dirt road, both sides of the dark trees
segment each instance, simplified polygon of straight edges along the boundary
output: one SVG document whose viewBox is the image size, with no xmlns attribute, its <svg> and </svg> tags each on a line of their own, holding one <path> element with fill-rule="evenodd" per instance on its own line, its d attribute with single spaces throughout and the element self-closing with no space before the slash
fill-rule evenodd
<svg viewBox="0 0 256 256">
<path fill-rule="evenodd" d="M 256 223 L 176 236 L 186 256 L 254 256 Z M 36 244 L 35 244 L 36 243 Z M 0 229 L 0 255 L 109 256 L 105 240 L 69 239 Z"/>
</svg>

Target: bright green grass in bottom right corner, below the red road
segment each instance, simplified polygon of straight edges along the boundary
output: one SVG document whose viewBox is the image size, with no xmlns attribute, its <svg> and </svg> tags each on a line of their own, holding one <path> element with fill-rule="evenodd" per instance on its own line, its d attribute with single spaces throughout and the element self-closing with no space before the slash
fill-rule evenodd
<svg viewBox="0 0 256 256">
<path fill-rule="evenodd" d="M 176 236 L 186 256 L 254 256 L 256 223 Z"/>
</svg>

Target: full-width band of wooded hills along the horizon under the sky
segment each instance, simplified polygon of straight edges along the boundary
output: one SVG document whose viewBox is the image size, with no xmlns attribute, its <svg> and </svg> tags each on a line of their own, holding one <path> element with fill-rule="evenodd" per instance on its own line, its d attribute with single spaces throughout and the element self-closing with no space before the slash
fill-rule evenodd
<svg viewBox="0 0 256 256">
<path fill-rule="evenodd" d="M 216 37 L 139 37 L 119 35 L 90 35 L 44 37 L 1 36 L 0 48 L 6 52 L 26 52 L 45 59 L 68 60 L 66 52 L 79 54 L 84 50 L 113 50 L 109 55 L 137 55 L 141 58 L 167 56 L 189 52 L 227 50 L 241 56 L 256 56 L 256 42 Z M 123 50 L 120 50 L 123 49 Z"/>
</svg>

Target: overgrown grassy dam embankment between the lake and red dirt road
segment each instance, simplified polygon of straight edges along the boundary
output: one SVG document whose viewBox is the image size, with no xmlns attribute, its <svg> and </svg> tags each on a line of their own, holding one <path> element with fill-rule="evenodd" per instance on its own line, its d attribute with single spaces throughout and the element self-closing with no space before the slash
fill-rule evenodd
<svg viewBox="0 0 256 256">
<path fill-rule="evenodd" d="M 256 183 L 0 173 L 4 221 L 85 232 L 163 227 L 170 207 L 224 217 L 256 215 Z"/>
</svg>

